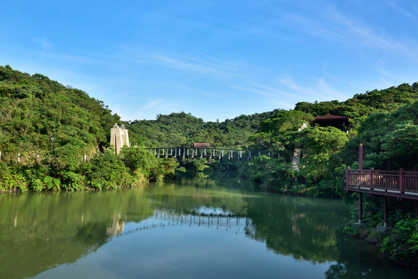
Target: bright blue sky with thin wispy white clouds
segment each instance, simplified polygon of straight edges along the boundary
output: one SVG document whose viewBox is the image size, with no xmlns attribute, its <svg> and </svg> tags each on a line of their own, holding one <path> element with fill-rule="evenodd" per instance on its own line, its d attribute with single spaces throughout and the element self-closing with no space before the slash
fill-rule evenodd
<svg viewBox="0 0 418 279">
<path fill-rule="evenodd" d="M 123 120 L 222 121 L 418 82 L 412 0 L 14 0 L 0 14 L 0 65 Z"/>
</svg>

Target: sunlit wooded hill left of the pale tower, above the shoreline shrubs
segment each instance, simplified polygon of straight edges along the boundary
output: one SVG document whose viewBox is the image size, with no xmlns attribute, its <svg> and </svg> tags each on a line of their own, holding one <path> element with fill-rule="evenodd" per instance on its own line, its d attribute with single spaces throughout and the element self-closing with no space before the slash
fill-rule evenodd
<svg viewBox="0 0 418 279">
<path fill-rule="evenodd" d="M 86 92 L 63 86 L 45 75 L 29 75 L 0 66 L 0 146 L 2 159 L 21 153 L 29 160 L 51 148 L 92 154 L 109 142 L 119 116 Z M 58 155 L 58 154 L 57 154 Z"/>
</svg>

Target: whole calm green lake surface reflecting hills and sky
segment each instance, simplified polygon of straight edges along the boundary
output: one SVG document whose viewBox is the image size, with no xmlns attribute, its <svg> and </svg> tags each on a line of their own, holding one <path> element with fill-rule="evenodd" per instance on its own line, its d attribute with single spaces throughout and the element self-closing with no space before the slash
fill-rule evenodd
<svg viewBox="0 0 418 279">
<path fill-rule="evenodd" d="M 227 174 L 0 195 L 0 278 L 417 278 L 339 234 L 348 211 Z"/>
</svg>

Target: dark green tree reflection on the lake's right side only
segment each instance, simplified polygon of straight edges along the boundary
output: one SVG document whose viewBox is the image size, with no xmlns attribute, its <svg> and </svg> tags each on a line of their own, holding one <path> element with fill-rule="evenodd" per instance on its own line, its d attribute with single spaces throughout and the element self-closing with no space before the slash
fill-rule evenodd
<svg viewBox="0 0 418 279">
<path fill-rule="evenodd" d="M 266 195 L 249 199 L 247 212 L 255 228 L 251 237 L 265 240 L 275 252 L 314 262 L 330 262 L 339 255 L 336 230 L 347 214 L 341 201 Z"/>
</svg>

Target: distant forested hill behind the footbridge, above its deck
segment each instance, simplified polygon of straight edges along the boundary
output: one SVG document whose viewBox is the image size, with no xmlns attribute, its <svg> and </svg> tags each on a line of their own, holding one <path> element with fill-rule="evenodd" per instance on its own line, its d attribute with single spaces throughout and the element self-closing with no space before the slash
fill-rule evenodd
<svg viewBox="0 0 418 279">
<path fill-rule="evenodd" d="M 193 142 L 208 142 L 211 146 L 242 148 L 247 139 L 279 110 L 261 114 L 240 115 L 234 119 L 219 122 L 204 122 L 185 112 L 158 114 L 156 120 L 135 120 L 125 122 L 130 131 L 132 143 L 147 147 L 192 146 Z"/>
</svg>

